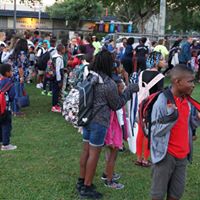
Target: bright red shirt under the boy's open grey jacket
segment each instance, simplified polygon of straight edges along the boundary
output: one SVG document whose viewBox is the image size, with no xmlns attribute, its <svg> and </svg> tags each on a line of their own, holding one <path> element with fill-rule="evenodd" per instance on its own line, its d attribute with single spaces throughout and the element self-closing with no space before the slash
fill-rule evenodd
<svg viewBox="0 0 200 200">
<path fill-rule="evenodd" d="M 186 98 L 181 99 L 174 96 L 176 106 L 178 108 L 178 120 L 171 129 L 171 134 L 168 144 L 168 153 L 172 156 L 183 159 L 189 151 L 189 105 Z"/>
</svg>

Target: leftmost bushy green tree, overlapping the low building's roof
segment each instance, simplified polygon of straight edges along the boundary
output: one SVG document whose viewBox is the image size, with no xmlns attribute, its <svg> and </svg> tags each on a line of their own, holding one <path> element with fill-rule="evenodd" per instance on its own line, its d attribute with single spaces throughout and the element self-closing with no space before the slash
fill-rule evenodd
<svg viewBox="0 0 200 200">
<path fill-rule="evenodd" d="M 101 16 L 101 2 L 95 0 L 64 0 L 47 8 L 51 17 L 60 16 L 70 21 L 73 28 L 77 29 L 81 19 Z"/>
</svg>

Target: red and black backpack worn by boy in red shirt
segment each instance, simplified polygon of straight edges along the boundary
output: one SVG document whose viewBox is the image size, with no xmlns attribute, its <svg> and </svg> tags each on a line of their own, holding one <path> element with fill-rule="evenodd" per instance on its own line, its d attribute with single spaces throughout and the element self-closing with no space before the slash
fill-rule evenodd
<svg viewBox="0 0 200 200">
<path fill-rule="evenodd" d="M 146 99 L 144 99 L 139 105 L 139 123 L 142 127 L 144 135 L 148 138 L 148 147 L 150 147 L 152 125 L 156 123 L 167 124 L 169 122 L 175 121 L 178 118 L 178 110 L 174 109 L 174 112 L 172 114 L 163 116 L 160 119 L 157 119 L 156 121 L 151 121 L 153 105 L 161 93 L 165 95 L 165 97 L 167 98 L 167 102 L 176 105 L 170 88 L 151 94 Z"/>
</svg>

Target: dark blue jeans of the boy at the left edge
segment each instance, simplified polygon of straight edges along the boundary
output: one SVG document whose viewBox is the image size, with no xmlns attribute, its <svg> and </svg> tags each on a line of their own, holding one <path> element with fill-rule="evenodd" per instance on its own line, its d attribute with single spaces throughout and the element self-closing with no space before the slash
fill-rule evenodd
<svg viewBox="0 0 200 200">
<path fill-rule="evenodd" d="M 3 145 L 9 145 L 10 144 L 10 135 L 12 130 L 12 115 L 11 112 L 7 112 L 6 118 L 0 122 L 0 142 L 3 143 Z"/>
</svg>

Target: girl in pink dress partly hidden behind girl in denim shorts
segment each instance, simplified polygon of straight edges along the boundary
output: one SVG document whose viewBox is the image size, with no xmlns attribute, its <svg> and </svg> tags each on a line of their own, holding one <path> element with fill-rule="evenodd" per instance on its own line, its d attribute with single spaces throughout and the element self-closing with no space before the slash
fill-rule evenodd
<svg viewBox="0 0 200 200">
<path fill-rule="evenodd" d="M 118 85 L 119 94 L 123 93 L 124 83 L 117 76 L 115 76 L 115 82 Z M 125 108 L 121 108 L 117 111 L 111 111 L 110 126 L 108 128 L 105 145 L 109 148 L 109 153 L 106 154 L 106 169 L 101 179 L 105 180 L 105 186 L 113 189 L 123 189 L 124 185 L 117 183 L 116 180 L 120 178 L 118 174 L 114 174 L 114 167 L 117 158 L 117 152 L 123 148 L 123 135 L 126 128 L 126 114 Z"/>
</svg>

